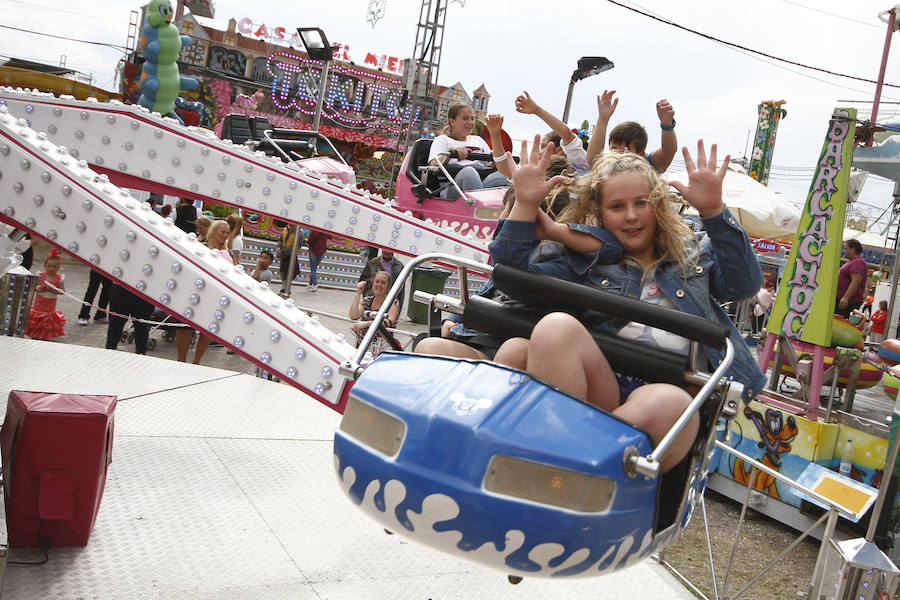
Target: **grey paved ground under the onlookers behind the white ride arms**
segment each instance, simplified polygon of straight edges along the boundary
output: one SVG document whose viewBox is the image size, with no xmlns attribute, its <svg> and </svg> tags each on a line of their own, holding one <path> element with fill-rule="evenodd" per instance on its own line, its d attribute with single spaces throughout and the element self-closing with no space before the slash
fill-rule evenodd
<svg viewBox="0 0 900 600">
<path fill-rule="evenodd" d="M 32 272 L 40 270 L 43 264 L 44 256 L 49 251 L 49 246 L 45 243 L 37 242 L 35 245 L 35 259 L 32 266 Z M 78 325 L 78 311 L 81 309 L 81 299 L 88 286 L 88 274 L 90 269 L 82 263 L 63 256 L 62 271 L 66 274 L 66 291 L 72 296 L 60 296 L 57 301 L 57 308 L 63 312 L 66 317 L 66 335 L 60 338 L 61 343 L 76 344 L 79 346 L 92 346 L 95 348 L 104 348 L 106 346 L 106 325 L 92 320 L 87 326 Z M 280 284 L 276 284 L 280 285 Z M 99 293 L 97 299 L 99 299 Z M 406 297 L 409 298 L 407 293 Z M 319 291 L 310 292 L 305 285 L 295 284 L 291 296 L 298 306 L 309 308 L 316 311 L 323 311 L 339 316 L 346 316 L 350 308 L 350 301 L 353 299 L 353 292 L 347 290 L 330 289 L 319 286 Z M 95 302 L 97 301 L 95 299 Z M 406 315 L 407 307 L 404 306 L 401 311 L 400 323 L 398 329 L 409 331 L 413 334 L 426 330 L 424 325 L 412 322 Z M 351 332 L 351 322 L 321 317 L 322 322 L 336 333 L 343 333 L 348 339 L 353 339 Z M 126 331 L 129 329 L 126 326 Z M 162 337 L 163 331 L 157 330 L 151 332 L 150 339 L 156 340 L 156 345 L 152 350 L 148 350 L 147 354 L 159 358 L 168 358 L 176 360 L 176 350 L 174 341 L 164 341 Z M 409 336 L 398 337 L 401 343 L 406 344 Z M 123 352 L 134 352 L 134 344 L 120 342 L 119 350 Z M 188 354 L 189 359 L 193 359 L 193 350 Z M 239 373 L 256 372 L 256 365 L 250 363 L 237 354 L 228 354 L 222 346 L 210 346 L 206 354 L 203 356 L 201 364 L 210 367 L 218 367 L 228 369 Z"/>
</svg>

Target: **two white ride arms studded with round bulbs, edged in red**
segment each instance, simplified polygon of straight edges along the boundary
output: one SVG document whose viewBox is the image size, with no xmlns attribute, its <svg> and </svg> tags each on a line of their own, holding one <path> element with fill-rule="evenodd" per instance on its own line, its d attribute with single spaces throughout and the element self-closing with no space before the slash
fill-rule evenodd
<svg viewBox="0 0 900 600">
<path fill-rule="evenodd" d="M 351 384 L 338 366 L 355 352 L 343 335 L 228 265 L 110 176 L 157 182 L 172 195 L 239 206 L 402 255 L 489 257 L 483 240 L 143 107 L 0 88 L 0 219 L 66 250 L 338 412 Z"/>
</svg>

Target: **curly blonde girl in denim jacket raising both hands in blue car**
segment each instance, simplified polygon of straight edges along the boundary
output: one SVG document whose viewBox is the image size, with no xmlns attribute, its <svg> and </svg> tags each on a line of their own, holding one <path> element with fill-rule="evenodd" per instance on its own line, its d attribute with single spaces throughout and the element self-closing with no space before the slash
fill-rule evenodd
<svg viewBox="0 0 900 600">
<path fill-rule="evenodd" d="M 687 149 L 684 158 L 689 181 L 675 187 L 700 213 L 705 234 L 694 236 L 683 223 L 672 207 L 666 182 L 646 160 L 633 154 L 616 154 L 593 166 L 578 203 L 570 206 L 561 220 L 602 225 L 614 240 L 605 240 L 601 250 L 608 253 L 616 243 L 621 258 L 613 264 L 602 264 L 596 250 L 599 241 L 580 236 L 566 241 L 570 249 L 583 253 L 580 258 L 569 252 L 550 261 L 531 263 L 531 242 L 526 240 L 546 235 L 542 229 L 548 225 L 538 215 L 537 207 L 559 180 L 544 179 L 550 159 L 546 150 L 541 154 L 535 145 L 530 157 L 523 151 L 513 174 L 516 203 L 491 244 L 491 256 L 495 264 L 546 273 L 727 325 L 735 351 L 728 375 L 743 384 L 743 397 L 749 401 L 761 389 L 765 377 L 717 300 L 751 296 L 759 289 L 762 274 L 746 234 L 722 202 L 728 158 L 717 169 L 716 146 L 707 159 L 702 141 L 697 144 L 696 164 Z M 658 444 L 689 404 L 689 395 L 676 386 L 618 376 L 591 330 L 672 352 L 688 352 L 687 340 L 627 319 L 600 317 L 583 324 L 571 315 L 551 313 L 538 322 L 530 339 L 505 342 L 495 360 L 513 366 L 524 364 L 525 370 L 550 385 L 643 429 Z M 718 364 L 723 352 L 704 350 L 711 363 Z M 697 426 L 695 417 L 662 458 L 663 470 L 685 455 Z"/>
</svg>

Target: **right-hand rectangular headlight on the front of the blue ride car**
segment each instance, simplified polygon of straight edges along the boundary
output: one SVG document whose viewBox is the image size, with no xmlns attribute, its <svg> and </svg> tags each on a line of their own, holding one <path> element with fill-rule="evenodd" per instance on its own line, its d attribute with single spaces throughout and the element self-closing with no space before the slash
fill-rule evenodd
<svg viewBox="0 0 900 600">
<path fill-rule="evenodd" d="M 498 454 L 488 465 L 484 488 L 497 494 L 592 513 L 609 508 L 616 482 Z"/>
</svg>

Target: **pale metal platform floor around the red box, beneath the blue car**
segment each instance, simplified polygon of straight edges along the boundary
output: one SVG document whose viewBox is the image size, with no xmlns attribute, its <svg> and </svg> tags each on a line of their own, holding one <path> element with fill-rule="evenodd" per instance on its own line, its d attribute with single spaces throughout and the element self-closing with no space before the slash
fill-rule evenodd
<svg viewBox="0 0 900 600">
<path fill-rule="evenodd" d="M 133 353 L 0 337 L 10 390 L 112 394 L 106 490 L 90 542 L 6 569 L 6 599 L 693 598 L 654 562 L 510 585 L 387 535 L 340 491 L 340 416 L 292 387 Z M 11 560 L 36 551 L 13 549 Z"/>
</svg>

